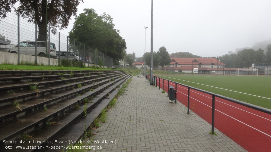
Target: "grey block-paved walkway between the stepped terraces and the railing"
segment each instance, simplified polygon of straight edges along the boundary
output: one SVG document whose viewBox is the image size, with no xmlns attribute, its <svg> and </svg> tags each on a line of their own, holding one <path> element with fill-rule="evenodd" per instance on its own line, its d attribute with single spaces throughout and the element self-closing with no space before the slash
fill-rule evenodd
<svg viewBox="0 0 271 152">
<path fill-rule="evenodd" d="M 134 76 L 108 111 L 107 122 L 94 131 L 94 141 L 116 144 L 92 143 L 89 146 L 101 149 L 91 151 L 246 151 L 216 129 L 217 135 L 210 135 L 209 123 L 192 111 L 187 114 L 187 107 L 171 102 L 161 91 L 145 78 Z"/>
</svg>

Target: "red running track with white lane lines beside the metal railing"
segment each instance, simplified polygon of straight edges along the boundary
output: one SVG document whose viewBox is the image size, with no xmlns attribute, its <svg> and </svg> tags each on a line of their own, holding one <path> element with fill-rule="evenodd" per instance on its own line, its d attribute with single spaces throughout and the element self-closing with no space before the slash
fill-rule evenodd
<svg viewBox="0 0 271 152">
<path fill-rule="evenodd" d="M 166 92 L 167 83 L 164 80 Z M 175 87 L 173 82 L 169 85 Z M 163 79 L 160 79 L 160 88 L 163 88 Z M 185 106 L 187 94 L 187 87 L 177 85 L 177 100 Z M 190 110 L 212 124 L 212 95 L 190 89 Z M 271 115 L 267 113 L 215 97 L 215 128 L 249 152 L 271 151 Z"/>
</svg>

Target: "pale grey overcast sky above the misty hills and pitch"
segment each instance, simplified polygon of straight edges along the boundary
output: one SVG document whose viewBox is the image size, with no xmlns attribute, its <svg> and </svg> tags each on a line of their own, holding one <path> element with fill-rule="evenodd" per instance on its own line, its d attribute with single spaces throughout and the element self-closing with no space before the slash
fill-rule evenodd
<svg viewBox="0 0 271 152">
<path fill-rule="evenodd" d="M 202 57 L 222 56 L 236 48 L 271 39 L 270 0 L 154 0 L 153 51 L 189 52 Z M 84 0 L 78 13 L 93 8 L 113 18 L 127 53 L 142 57 L 151 50 L 151 0 Z M 75 18 L 75 17 L 72 17 Z M 65 35 L 71 31 L 60 31 Z M 263 48 L 264 49 L 264 48 Z"/>
</svg>

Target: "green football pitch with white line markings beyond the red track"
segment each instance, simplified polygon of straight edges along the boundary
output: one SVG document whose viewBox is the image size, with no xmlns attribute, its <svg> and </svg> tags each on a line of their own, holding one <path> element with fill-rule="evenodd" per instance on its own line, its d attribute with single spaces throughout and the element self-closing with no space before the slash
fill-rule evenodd
<svg viewBox="0 0 271 152">
<path fill-rule="evenodd" d="M 270 76 L 161 75 L 158 77 L 271 109 Z"/>
</svg>

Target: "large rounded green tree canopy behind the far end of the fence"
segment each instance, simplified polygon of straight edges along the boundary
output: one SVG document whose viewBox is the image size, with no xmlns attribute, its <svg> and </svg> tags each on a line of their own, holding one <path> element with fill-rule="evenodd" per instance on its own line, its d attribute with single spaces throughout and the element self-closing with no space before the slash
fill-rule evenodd
<svg viewBox="0 0 271 152">
<path fill-rule="evenodd" d="M 115 60 L 122 60 L 125 56 L 126 42 L 114 26 L 110 15 L 98 15 L 94 9 L 84 9 L 84 13 L 75 18 L 69 39 L 97 48 Z"/>
</svg>

